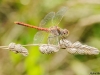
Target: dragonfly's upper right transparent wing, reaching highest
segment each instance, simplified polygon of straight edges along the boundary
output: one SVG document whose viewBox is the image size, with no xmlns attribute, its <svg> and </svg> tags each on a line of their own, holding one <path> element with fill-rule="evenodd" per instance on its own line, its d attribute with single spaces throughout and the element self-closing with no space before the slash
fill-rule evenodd
<svg viewBox="0 0 100 75">
<path fill-rule="evenodd" d="M 53 25 L 58 25 L 67 11 L 66 7 L 62 7 L 53 18 Z"/>
</svg>

